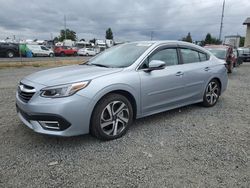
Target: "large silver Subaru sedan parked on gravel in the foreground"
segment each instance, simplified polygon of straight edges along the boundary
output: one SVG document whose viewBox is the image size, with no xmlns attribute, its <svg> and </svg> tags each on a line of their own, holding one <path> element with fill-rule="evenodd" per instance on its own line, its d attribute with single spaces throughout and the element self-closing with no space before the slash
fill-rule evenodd
<svg viewBox="0 0 250 188">
<path fill-rule="evenodd" d="M 85 64 L 25 77 L 16 106 L 35 132 L 90 132 L 111 140 L 124 135 L 136 118 L 193 103 L 212 107 L 227 82 L 224 63 L 204 48 L 181 41 L 132 42 Z"/>
</svg>

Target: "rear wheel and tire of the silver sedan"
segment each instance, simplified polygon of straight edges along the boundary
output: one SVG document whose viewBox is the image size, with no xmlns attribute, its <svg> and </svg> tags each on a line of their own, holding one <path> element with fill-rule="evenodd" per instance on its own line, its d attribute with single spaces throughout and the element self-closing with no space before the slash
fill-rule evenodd
<svg viewBox="0 0 250 188">
<path fill-rule="evenodd" d="M 219 100 L 221 87 L 216 79 L 212 79 L 204 92 L 202 105 L 205 107 L 214 106 Z"/>
</svg>

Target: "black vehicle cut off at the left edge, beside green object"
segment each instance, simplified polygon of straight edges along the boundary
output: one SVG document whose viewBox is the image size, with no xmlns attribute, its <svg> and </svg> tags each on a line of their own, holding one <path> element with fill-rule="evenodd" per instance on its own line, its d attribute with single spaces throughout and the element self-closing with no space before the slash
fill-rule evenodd
<svg viewBox="0 0 250 188">
<path fill-rule="evenodd" d="M 0 56 L 9 57 L 9 58 L 19 56 L 18 44 L 1 42 L 0 43 Z"/>
</svg>

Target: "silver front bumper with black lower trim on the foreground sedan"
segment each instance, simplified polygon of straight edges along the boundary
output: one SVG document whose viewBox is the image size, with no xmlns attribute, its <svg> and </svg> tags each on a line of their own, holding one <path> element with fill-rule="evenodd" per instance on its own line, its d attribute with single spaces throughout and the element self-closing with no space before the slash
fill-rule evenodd
<svg viewBox="0 0 250 188">
<path fill-rule="evenodd" d="M 55 136 L 88 134 L 91 118 L 90 101 L 77 94 L 64 98 L 43 98 L 38 92 L 28 102 L 24 102 L 18 93 L 16 94 L 17 114 L 20 120 L 37 133 Z M 46 126 L 44 122 L 57 122 L 58 128 Z"/>
</svg>

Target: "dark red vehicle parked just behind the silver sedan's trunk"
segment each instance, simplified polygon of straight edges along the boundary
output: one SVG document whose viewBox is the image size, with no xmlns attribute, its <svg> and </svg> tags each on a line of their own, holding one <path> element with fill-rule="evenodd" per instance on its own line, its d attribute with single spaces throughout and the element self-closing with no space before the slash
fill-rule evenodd
<svg viewBox="0 0 250 188">
<path fill-rule="evenodd" d="M 232 73 L 233 67 L 236 66 L 237 57 L 233 53 L 233 48 L 227 45 L 207 45 L 206 48 L 217 58 L 222 59 L 226 63 L 228 73 Z"/>
</svg>

